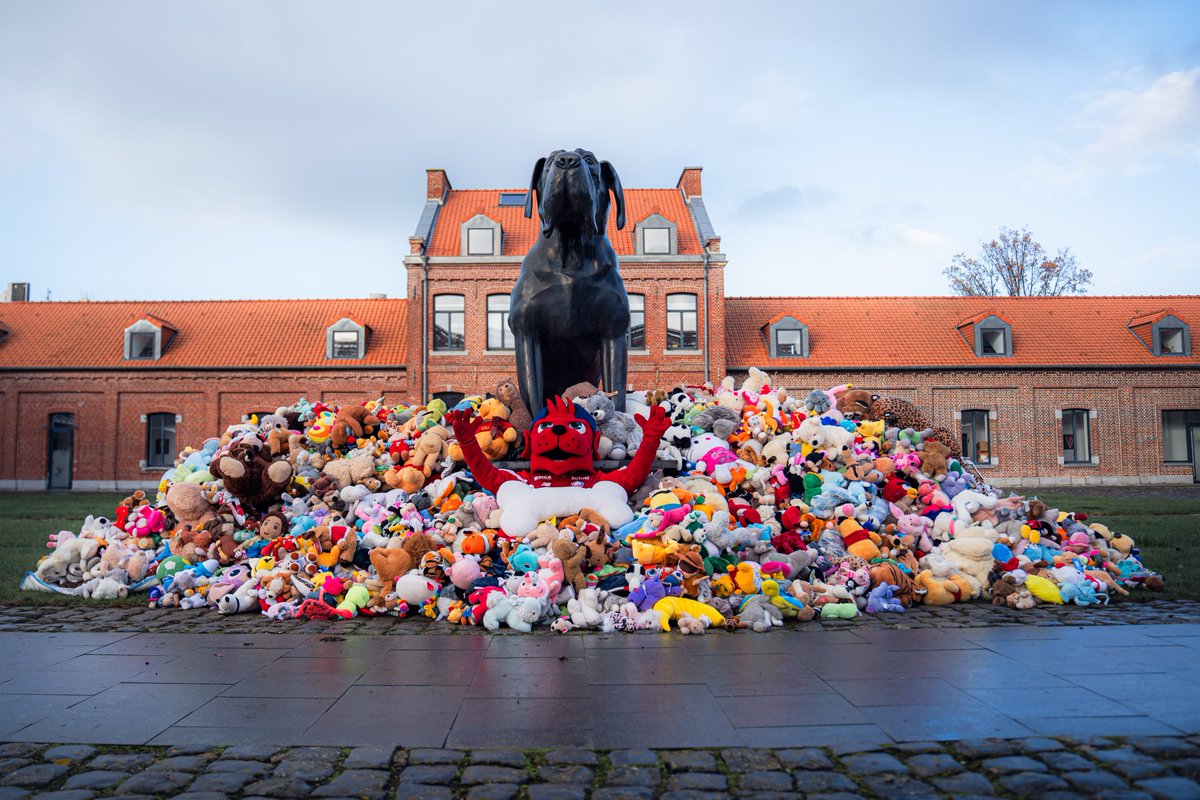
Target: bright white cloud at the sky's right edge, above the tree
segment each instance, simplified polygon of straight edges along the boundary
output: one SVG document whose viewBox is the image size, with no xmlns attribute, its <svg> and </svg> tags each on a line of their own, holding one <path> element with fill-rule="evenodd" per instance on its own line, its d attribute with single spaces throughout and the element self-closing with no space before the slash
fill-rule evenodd
<svg viewBox="0 0 1200 800">
<path fill-rule="evenodd" d="M 1172 160 L 1200 163 L 1200 67 L 1099 92 L 1069 124 L 1079 146 L 1039 157 L 1027 174 L 1069 184 L 1146 174 Z"/>
</svg>

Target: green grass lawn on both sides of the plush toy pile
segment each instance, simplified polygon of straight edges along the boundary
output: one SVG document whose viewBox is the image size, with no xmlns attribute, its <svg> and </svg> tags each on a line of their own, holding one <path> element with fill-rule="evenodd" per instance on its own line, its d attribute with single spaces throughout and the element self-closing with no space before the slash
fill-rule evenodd
<svg viewBox="0 0 1200 800">
<path fill-rule="evenodd" d="M 78 531 L 88 515 L 112 517 L 124 497 L 114 492 L 0 492 L 0 602 L 89 602 L 19 591 L 17 587 L 25 571 L 46 553 L 47 536 L 58 530 Z M 1120 489 L 1103 497 L 1048 493 L 1039 497 L 1058 509 L 1086 511 L 1091 522 L 1103 522 L 1134 537 L 1146 566 L 1166 578 L 1166 591 L 1136 593 L 1134 597 L 1200 599 L 1200 500 L 1122 499 Z M 143 600 L 125 602 L 140 604 Z"/>
</svg>

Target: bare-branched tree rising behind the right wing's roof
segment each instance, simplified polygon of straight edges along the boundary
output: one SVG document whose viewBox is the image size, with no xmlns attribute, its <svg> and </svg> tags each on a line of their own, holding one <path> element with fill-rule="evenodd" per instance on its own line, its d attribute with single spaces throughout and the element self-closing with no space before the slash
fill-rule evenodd
<svg viewBox="0 0 1200 800">
<path fill-rule="evenodd" d="M 1028 228 L 1000 229 L 1000 237 L 982 242 L 978 258 L 959 253 L 943 271 L 950 289 L 960 295 L 1064 295 L 1087 294 L 1091 270 L 1075 264 L 1069 248 L 1046 258 Z"/>
</svg>

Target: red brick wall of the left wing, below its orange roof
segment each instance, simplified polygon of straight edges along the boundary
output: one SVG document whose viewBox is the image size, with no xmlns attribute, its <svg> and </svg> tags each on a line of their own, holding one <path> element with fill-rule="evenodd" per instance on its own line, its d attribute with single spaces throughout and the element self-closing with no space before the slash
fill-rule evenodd
<svg viewBox="0 0 1200 800">
<path fill-rule="evenodd" d="M 76 415 L 76 488 L 156 483 L 161 469 L 143 470 L 143 414 L 182 416 L 175 443 L 199 445 L 242 414 L 308 399 L 360 403 L 385 395 L 408 399 L 402 371 L 313 371 L 288 374 L 108 372 L 6 373 L 0 380 L 0 488 L 43 488 L 49 415 Z"/>
</svg>

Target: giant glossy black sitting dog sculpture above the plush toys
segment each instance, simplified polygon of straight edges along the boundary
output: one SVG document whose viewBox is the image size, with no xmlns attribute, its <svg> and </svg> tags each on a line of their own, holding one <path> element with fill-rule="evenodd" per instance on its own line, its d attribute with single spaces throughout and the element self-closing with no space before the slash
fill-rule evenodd
<svg viewBox="0 0 1200 800">
<path fill-rule="evenodd" d="M 625 227 L 620 179 L 587 150 L 556 150 L 534 164 L 526 217 L 534 192 L 541 236 L 521 261 L 509 312 L 521 393 L 538 409 L 589 381 L 616 392 L 613 403 L 625 410 L 629 297 L 606 233 L 608 192 L 617 228 Z"/>
</svg>

